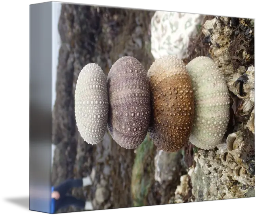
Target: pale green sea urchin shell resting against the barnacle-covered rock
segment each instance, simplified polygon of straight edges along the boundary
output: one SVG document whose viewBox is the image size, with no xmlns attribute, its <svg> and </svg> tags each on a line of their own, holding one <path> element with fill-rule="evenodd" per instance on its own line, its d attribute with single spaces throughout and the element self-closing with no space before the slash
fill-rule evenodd
<svg viewBox="0 0 256 215">
<path fill-rule="evenodd" d="M 195 118 L 189 140 L 201 149 L 213 149 L 229 122 L 229 92 L 218 66 L 208 57 L 187 64 L 195 95 Z"/>
</svg>

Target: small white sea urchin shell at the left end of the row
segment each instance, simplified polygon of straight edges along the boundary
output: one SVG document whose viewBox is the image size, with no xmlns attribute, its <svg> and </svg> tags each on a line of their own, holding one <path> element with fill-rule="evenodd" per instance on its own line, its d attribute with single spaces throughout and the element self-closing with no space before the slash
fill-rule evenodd
<svg viewBox="0 0 256 215">
<path fill-rule="evenodd" d="M 103 140 L 108 112 L 107 78 L 100 66 L 87 64 L 78 76 L 75 90 L 76 125 L 84 141 L 94 145 Z"/>
</svg>

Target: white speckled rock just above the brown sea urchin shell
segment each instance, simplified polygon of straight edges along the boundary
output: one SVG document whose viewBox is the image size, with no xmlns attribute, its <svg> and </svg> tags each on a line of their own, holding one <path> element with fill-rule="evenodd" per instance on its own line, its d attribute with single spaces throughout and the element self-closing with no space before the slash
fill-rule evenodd
<svg viewBox="0 0 256 215">
<path fill-rule="evenodd" d="M 189 38 L 196 35 L 204 15 L 156 11 L 151 19 L 151 53 L 155 59 L 164 55 L 187 58 Z"/>
</svg>

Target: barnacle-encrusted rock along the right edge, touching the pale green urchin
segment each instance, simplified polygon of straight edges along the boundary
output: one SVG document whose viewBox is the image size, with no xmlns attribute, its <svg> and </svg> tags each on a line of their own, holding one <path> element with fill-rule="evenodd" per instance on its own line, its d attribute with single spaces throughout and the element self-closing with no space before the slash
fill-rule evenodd
<svg viewBox="0 0 256 215">
<path fill-rule="evenodd" d="M 188 175 L 191 201 L 255 196 L 254 22 L 215 17 L 206 21 L 210 54 L 227 81 L 231 96 L 229 125 L 216 148 L 199 150 Z"/>
</svg>

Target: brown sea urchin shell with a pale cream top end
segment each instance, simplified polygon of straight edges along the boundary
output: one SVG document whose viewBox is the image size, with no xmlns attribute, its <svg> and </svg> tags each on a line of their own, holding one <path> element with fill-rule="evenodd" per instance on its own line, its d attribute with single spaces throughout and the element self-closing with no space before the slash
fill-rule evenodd
<svg viewBox="0 0 256 215">
<path fill-rule="evenodd" d="M 166 152 L 178 151 L 189 140 L 194 117 L 192 83 L 179 58 L 161 57 L 149 68 L 152 117 L 149 134 Z"/>
</svg>

